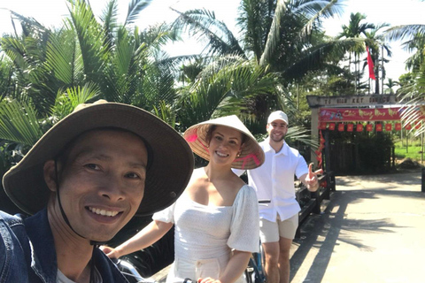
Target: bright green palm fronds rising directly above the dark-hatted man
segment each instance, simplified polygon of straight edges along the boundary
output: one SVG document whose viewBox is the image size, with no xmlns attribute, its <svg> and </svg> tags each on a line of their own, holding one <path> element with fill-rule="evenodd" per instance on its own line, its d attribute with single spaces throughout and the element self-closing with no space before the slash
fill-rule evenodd
<svg viewBox="0 0 425 283">
<path fill-rule="evenodd" d="M 74 106 L 94 99 L 131 103 L 148 111 L 174 99 L 174 79 L 158 50 L 174 33 L 164 25 L 132 27 L 150 1 L 132 0 L 122 25 L 117 0 L 100 17 L 89 3 L 69 0 L 64 27 L 50 30 L 12 12 L 23 33 L 1 38 L 0 141 L 23 156 Z M 171 97 L 171 98 L 170 98 Z"/>
</svg>

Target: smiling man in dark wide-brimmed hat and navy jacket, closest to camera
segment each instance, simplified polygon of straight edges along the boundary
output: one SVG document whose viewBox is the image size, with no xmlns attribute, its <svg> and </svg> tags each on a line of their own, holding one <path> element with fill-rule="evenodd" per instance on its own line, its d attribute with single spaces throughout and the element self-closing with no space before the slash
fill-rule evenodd
<svg viewBox="0 0 425 283">
<path fill-rule="evenodd" d="M 0 211 L 0 281 L 127 282 L 98 245 L 174 203 L 192 170 L 187 142 L 149 112 L 77 106 L 4 174 L 6 194 L 34 215 Z"/>
</svg>

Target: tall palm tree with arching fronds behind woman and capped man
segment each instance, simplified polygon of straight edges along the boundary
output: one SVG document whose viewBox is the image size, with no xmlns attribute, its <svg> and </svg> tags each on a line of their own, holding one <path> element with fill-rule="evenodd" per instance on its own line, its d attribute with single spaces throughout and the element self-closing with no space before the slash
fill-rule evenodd
<svg viewBox="0 0 425 283">
<path fill-rule="evenodd" d="M 320 19 L 339 11 L 341 6 L 337 1 L 244 0 L 238 19 L 238 25 L 243 31 L 243 42 L 237 42 L 236 36 L 220 20 L 215 19 L 213 12 L 181 12 L 174 25 L 182 29 L 189 27 L 191 35 L 197 35 L 199 39 L 208 42 L 205 55 L 209 58 L 217 60 L 214 56 L 232 54 L 251 61 L 245 65 L 259 65 L 264 68 L 265 74 L 274 73 L 278 76 L 279 80 L 270 81 L 274 83 L 274 91 L 252 96 L 242 105 L 240 116 L 247 124 L 257 120 L 264 125 L 271 109 L 279 107 L 290 111 L 290 103 L 287 102 L 291 99 L 286 85 L 302 79 L 306 73 L 334 65 L 336 54 L 341 57 L 344 50 L 357 44 L 355 39 L 323 40 Z M 230 61 L 228 63 L 233 64 Z M 205 76 L 199 76 L 198 80 L 205 80 Z M 210 107 L 215 110 L 217 104 Z"/>
</svg>

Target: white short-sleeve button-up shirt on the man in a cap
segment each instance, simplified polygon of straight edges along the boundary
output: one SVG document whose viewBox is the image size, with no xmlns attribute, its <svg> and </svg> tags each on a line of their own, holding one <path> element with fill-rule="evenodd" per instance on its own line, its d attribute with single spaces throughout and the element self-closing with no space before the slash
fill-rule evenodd
<svg viewBox="0 0 425 283">
<path fill-rule="evenodd" d="M 300 210 L 295 198 L 294 175 L 299 179 L 308 173 L 308 166 L 297 149 L 284 142 L 282 149 L 275 152 L 269 139 L 259 143 L 266 161 L 258 168 L 248 170 L 248 180 L 259 200 L 271 201 L 267 206 L 259 206 L 259 218 L 274 222 L 277 214 L 284 220 Z"/>
</svg>

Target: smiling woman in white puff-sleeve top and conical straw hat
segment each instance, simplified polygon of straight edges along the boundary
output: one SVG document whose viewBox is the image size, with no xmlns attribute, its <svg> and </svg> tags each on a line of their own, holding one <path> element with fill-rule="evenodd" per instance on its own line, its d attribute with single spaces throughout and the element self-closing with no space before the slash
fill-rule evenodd
<svg viewBox="0 0 425 283">
<path fill-rule="evenodd" d="M 174 225 L 175 259 L 166 282 L 242 282 L 251 253 L 259 249 L 259 210 L 253 188 L 231 169 L 260 166 L 264 152 L 235 115 L 191 126 L 184 138 L 209 163 L 194 170 L 176 203 L 154 214 L 135 237 L 105 252 L 119 257 L 143 249 Z"/>
</svg>

